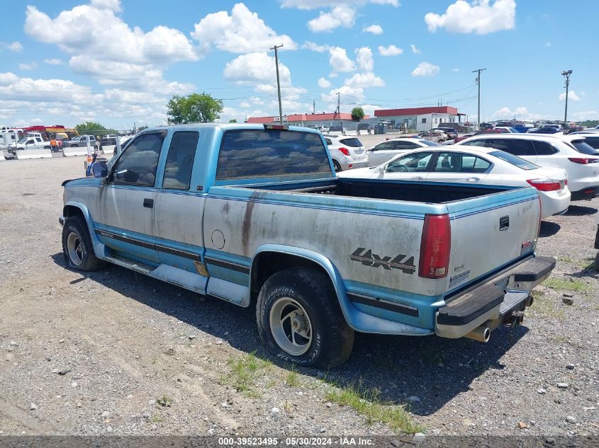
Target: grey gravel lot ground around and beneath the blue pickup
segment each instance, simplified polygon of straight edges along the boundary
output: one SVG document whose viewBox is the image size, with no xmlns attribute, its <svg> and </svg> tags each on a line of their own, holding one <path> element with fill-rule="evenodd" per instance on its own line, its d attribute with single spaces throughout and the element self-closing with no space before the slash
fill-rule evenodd
<svg viewBox="0 0 599 448">
<path fill-rule="evenodd" d="M 538 253 L 558 263 L 523 326 L 486 344 L 357 335 L 346 364 L 317 372 L 269 357 L 251 309 L 66 269 L 60 183 L 82 166 L 0 161 L 1 434 L 393 434 L 328 402 L 332 382 L 410 403 L 427 435 L 599 434 L 599 199 L 543 222 Z"/>
</svg>

